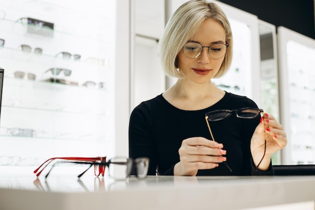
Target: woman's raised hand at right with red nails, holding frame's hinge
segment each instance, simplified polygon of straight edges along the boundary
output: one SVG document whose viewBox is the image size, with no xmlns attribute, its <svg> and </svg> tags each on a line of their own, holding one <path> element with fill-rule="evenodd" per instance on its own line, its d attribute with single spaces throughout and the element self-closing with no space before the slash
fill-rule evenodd
<svg viewBox="0 0 315 210">
<path fill-rule="evenodd" d="M 265 157 L 258 168 L 267 170 L 270 165 L 271 155 L 284 148 L 286 144 L 287 139 L 283 126 L 272 115 L 264 113 L 251 140 L 251 152 L 255 165 L 259 164 L 265 152 Z"/>
</svg>

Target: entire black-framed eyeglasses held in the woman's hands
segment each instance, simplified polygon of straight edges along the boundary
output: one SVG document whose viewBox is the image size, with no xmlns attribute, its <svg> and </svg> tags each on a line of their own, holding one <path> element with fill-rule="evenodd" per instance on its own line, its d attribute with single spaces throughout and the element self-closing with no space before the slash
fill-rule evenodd
<svg viewBox="0 0 315 210">
<path fill-rule="evenodd" d="M 249 107 L 238 109 L 238 110 L 215 110 L 215 111 L 206 113 L 205 119 L 206 119 L 206 123 L 207 123 L 208 129 L 209 129 L 209 132 L 210 132 L 210 135 L 211 135 L 211 138 L 213 141 L 215 141 L 215 140 L 214 140 L 209 122 L 224 120 L 224 119 L 230 117 L 232 115 L 232 113 L 235 113 L 237 118 L 241 118 L 241 119 L 254 119 L 254 118 L 258 117 L 260 114 L 264 115 L 264 111 L 262 109 L 249 108 Z M 263 155 L 261 161 L 258 163 L 256 170 L 258 170 L 260 163 L 263 161 L 263 159 L 265 157 L 265 153 L 266 153 L 266 137 L 265 137 L 264 155 Z M 225 162 L 223 162 L 223 163 L 230 170 L 230 172 L 232 172 L 231 168 Z"/>
</svg>

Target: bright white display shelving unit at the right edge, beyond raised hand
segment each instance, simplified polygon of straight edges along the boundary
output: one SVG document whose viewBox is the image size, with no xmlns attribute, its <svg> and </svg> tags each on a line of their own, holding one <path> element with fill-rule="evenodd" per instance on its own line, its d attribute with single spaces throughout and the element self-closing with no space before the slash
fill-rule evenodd
<svg viewBox="0 0 315 210">
<path fill-rule="evenodd" d="M 284 164 L 315 164 L 315 40 L 278 27 Z"/>
</svg>

